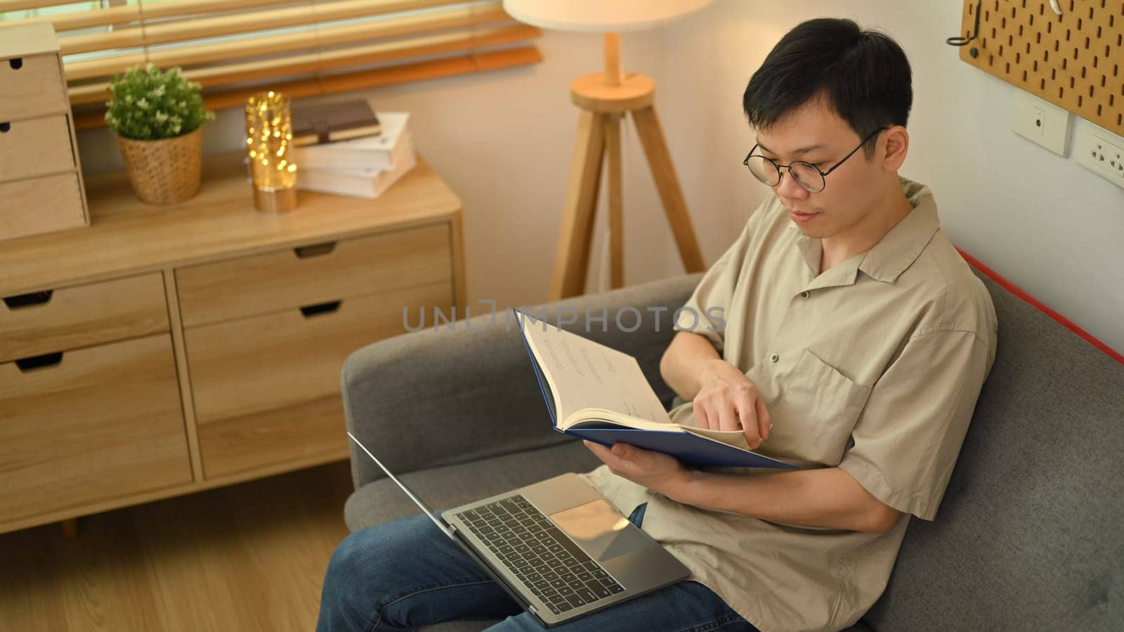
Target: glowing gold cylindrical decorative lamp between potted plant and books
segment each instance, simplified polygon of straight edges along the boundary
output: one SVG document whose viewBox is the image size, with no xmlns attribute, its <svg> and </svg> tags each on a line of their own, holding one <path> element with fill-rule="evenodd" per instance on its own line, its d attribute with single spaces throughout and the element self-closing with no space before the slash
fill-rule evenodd
<svg viewBox="0 0 1124 632">
<path fill-rule="evenodd" d="M 270 90 L 246 100 L 246 145 L 254 181 L 254 207 L 285 213 L 297 207 L 297 165 L 290 160 L 289 97 Z"/>
</svg>

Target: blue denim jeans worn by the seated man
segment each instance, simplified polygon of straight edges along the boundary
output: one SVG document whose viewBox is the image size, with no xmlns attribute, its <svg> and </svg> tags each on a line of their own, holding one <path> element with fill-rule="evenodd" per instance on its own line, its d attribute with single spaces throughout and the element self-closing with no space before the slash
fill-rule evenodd
<svg viewBox="0 0 1124 632">
<path fill-rule="evenodd" d="M 646 507 L 628 520 L 640 526 Z M 339 544 L 328 562 L 316 630 L 416 630 L 452 620 L 502 620 L 491 631 L 545 630 L 419 514 L 357 531 Z M 689 580 L 551 630 L 756 632 L 718 595 Z"/>
</svg>

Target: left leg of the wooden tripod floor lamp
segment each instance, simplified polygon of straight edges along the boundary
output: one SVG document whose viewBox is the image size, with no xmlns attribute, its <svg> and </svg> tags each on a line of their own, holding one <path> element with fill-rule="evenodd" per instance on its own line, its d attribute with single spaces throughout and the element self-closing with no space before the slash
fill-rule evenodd
<svg viewBox="0 0 1124 632">
<path fill-rule="evenodd" d="M 549 300 L 577 296 L 586 289 L 604 151 L 605 123 L 601 115 L 582 110 L 578 119 L 573 160 L 570 163 L 570 183 L 566 187 L 562 227 L 554 254 Z"/>
</svg>

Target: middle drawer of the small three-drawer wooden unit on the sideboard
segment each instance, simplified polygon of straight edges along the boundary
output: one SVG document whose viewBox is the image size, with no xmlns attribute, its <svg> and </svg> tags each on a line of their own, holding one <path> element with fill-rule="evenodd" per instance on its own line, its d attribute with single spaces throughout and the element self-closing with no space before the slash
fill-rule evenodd
<svg viewBox="0 0 1124 632">
<path fill-rule="evenodd" d="M 74 170 L 66 115 L 13 120 L 0 127 L 0 182 Z"/>
</svg>

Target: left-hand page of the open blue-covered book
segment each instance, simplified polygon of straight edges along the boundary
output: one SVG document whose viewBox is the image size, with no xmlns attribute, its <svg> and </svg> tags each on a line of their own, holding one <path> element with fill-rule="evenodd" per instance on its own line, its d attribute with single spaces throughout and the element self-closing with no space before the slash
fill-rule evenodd
<svg viewBox="0 0 1124 632">
<path fill-rule="evenodd" d="M 577 334 L 517 313 L 543 376 L 558 399 L 559 427 L 582 408 L 670 424 L 663 404 L 636 359 Z"/>
</svg>

